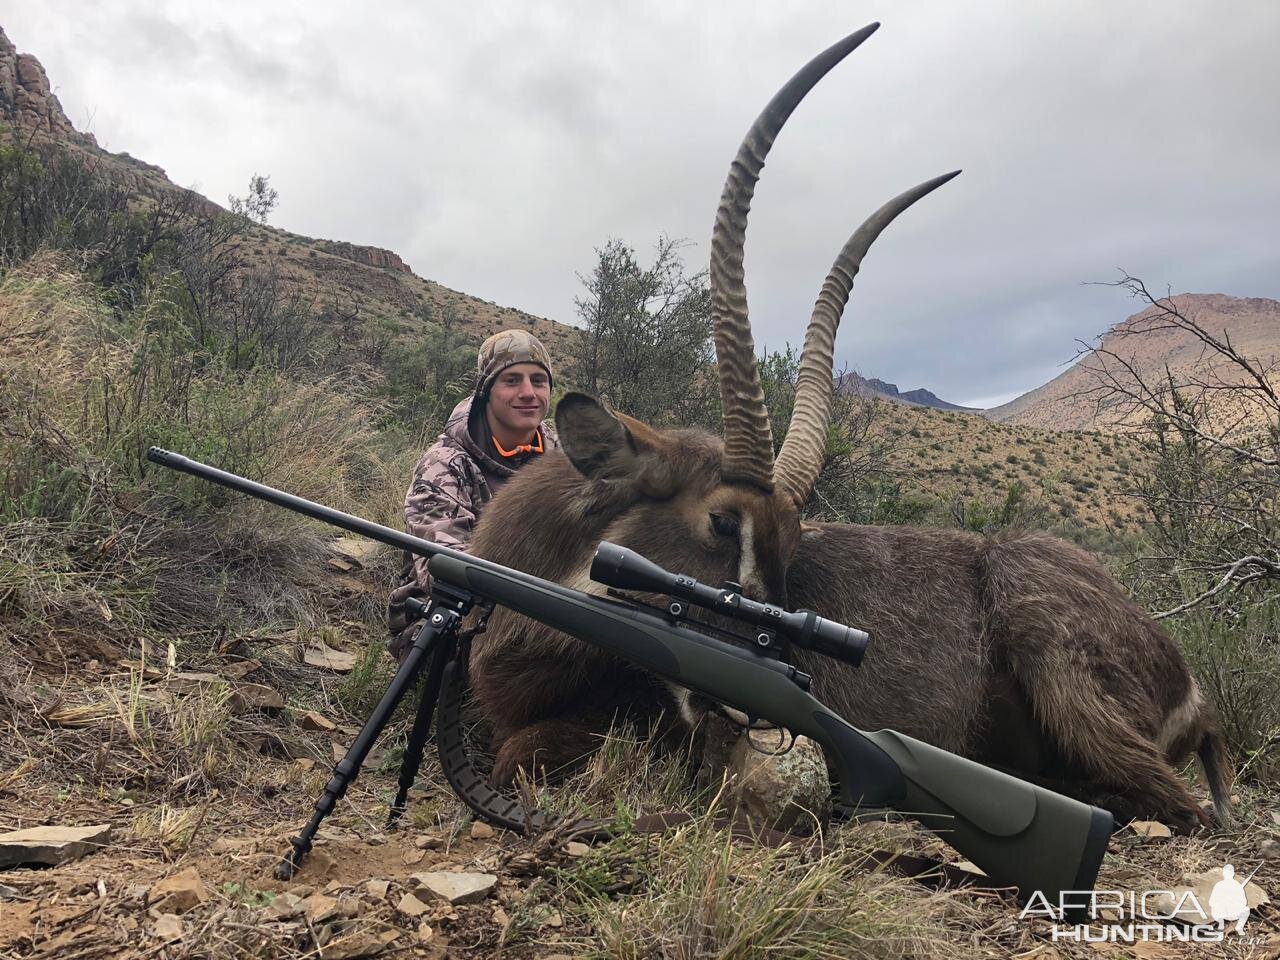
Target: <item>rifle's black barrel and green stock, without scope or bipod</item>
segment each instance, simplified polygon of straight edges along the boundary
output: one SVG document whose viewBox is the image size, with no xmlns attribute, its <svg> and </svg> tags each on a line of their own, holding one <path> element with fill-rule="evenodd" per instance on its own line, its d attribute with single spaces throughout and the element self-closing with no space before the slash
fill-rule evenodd
<svg viewBox="0 0 1280 960">
<path fill-rule="evenodd" d="M 449 550 L 156 447 L 147 458 L 372 540 L 428 557 L 431 575 L 713 700 L 827 748 L 842 800 L 919 820 L 1019 896 L 1093 887 L 1111 814 L 890 730 L 864 732 L 796 682 L 786 663 L 655 613 Z"/>
</svg>

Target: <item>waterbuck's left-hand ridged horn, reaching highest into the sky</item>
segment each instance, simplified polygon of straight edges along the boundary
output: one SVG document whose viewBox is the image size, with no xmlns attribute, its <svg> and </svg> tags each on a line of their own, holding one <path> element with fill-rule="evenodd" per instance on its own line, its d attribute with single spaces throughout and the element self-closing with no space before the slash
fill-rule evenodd
<svg viewBox="0 0 1280 960">
<path fill-rule="evenodd" d="M 742 279 L 746 215 L 751 210 L 755 183 L 774 137 L 805 93 L 878 28 L 878 23 L 863 27 L 805 64 L 751 124 L 730 165 L 712 230 L 710 264 L 712 323 L 724 411 L 721 472 L 730 483 L 749 483 L 765 492 L 773 490 L 773 436 L 760 375 L 755 369 L 755 343 Z"/>
</svg>

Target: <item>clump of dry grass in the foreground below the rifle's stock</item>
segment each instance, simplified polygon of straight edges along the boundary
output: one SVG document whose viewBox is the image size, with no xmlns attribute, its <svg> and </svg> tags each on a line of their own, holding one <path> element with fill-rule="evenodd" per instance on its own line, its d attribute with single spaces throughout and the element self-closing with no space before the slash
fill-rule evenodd
<svg viewBox="0 0 1280 960">
<path fill-rule="evenodd" d="M 946 897 L 868 872 L 865 852 L 855 836 L 819 856 L 744 844 L 709 810 L 671 833 L 593 850 L 554 884 L 564 913 L 591 931 L 572 943 L 580 956 L 965 956 L 947 945 Z"/>
</svg>

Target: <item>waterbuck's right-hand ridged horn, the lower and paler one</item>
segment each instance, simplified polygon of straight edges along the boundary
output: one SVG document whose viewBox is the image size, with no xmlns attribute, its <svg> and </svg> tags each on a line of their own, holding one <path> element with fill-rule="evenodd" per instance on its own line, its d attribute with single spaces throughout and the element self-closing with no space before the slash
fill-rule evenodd
<svg viewBox="0 0 1280 960">
<path fill-rule="evenodd" d="M 813 493 L 822 470 L 827 449 L 827 428 L 831 424 L 832 372 L 836 348 L 836 329 L 849 302 L 854 278 L 863 257 L 881 232 L 911 204 L 932 193 L 943 183 L 960 174 L 959 170 L 934 177 L 905 193 L 900 193 L 872 214 L 854 230 L 831 273 L 822 283 L 818 302 L 813 306 L 809 328 L 800 352 L 800 371 L 796 378 L 796 397 L 791 408 L 791 425 L 778 451 L 773 479 L 786 490 L 797 507 L 803 507 Z"/>
</svg>

